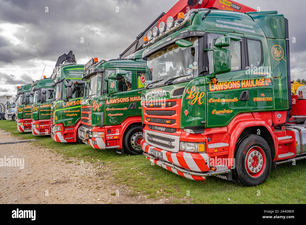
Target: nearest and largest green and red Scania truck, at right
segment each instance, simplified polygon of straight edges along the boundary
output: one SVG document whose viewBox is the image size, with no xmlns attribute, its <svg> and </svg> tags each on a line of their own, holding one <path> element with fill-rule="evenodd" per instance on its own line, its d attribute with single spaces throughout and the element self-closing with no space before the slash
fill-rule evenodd
<svg viewBox="0 0 306 225">
<path fill-rule="evenodd" d="M 290 93 L 288 20 L 216 3 L 145 36 L 141 147 L 183 177 L 254 186 L 271 167 L 306 158 L 305 100 Z"/>
</svg>

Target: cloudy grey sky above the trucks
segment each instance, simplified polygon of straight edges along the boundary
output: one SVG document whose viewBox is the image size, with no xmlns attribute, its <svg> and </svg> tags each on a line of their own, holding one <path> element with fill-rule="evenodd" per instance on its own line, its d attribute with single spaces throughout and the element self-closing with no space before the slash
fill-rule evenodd
<svg viewBox="0 0 306 225">
<path fill-rule="evenodd" d="M 58 56 L 70 50 L 88 62 L 85 44 L 99 59 L 118 58 L 136 36 L 178 0 L 0 0 L 0 95 L 50 76 Z M 306 78 L 304 0 L 236 0 L 261 11 L 277 10 L 289 20 L 292 78 Z M 49 12 L 45 12 L 48 7 Z M 119 7 L 119 12 L 116 12 Z M 118 9 L 118 8 L 117 8 Z M 117 10 L 118 11 L 118 10 Z M 89 46 L 88 54 L 93 55 Z"/>
</svg>

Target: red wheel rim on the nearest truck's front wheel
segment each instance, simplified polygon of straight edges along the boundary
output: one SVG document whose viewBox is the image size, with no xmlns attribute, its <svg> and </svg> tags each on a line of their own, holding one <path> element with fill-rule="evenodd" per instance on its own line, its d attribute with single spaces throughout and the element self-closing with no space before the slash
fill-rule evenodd
<svg viewBox="0 0 306 225">
<path fill-rule="evenodd" d="M 266 155 L 262 148 L 250 148 L 245 157 L 245 168 L 251 177 L 259 177 L 266 167 Z"/>
</svg>

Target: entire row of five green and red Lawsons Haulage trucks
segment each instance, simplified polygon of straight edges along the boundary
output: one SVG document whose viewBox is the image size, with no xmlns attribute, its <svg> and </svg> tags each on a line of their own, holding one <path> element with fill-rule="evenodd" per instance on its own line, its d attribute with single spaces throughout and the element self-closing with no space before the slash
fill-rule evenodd
<svg viewBox="0 0 306 225">
<path fill-rule="evenodd" d="M 19 131 L 242 186 L 306 158 L 306 97 L 291 95 L 288 20 L 277 11 L 180 0 L 118 59 L 67 55 L 51 78 L 18 89 Z"/>
</svg>

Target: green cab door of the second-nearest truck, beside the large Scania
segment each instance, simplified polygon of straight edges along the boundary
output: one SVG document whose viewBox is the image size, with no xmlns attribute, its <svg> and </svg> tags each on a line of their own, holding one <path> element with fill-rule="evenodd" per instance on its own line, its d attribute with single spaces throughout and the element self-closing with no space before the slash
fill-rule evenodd
<svg viewBox="0 0 306 225">
<path fill-rule="evenodd" d="M 123 69 L 125 75 L 118 74 L 118 92 L 108 96 L 104 95 L 105 125 L 121 124 L 125 118 L 136 116 L 136 84 L 133 78 L 134 69 Z M 115 70 L 107 70 L 106 78 Z M 106 84 L 107 85 L 107 84 Z M 106 88 L 107 89 L 107 88 Z"/>
</svg>

